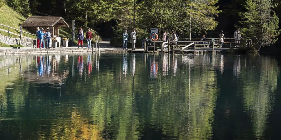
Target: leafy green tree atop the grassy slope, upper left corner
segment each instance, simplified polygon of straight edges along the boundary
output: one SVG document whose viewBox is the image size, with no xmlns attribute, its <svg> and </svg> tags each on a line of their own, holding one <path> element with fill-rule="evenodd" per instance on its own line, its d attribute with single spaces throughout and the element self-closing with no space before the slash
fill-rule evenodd
<svg viewBox="0 0 281 140">
<path fill-rule="evenodd" d="M 23 16 L 28 16 L 31 13 L 28 0 L 7 0 L 7 5 Z"/>
</svg>

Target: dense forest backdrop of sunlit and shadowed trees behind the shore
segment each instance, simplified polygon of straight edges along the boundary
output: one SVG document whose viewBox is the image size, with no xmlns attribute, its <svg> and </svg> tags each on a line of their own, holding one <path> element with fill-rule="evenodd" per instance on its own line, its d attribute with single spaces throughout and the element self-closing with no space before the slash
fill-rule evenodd
<svg viewBox="0 0 281 140">
<path fill-rule="evenodd" d="M 121 44 L 123 31 L 133 28 L 137 37 L 149 35 L 152 27 L 162 33 L 175 31 L 180 38 L 206 35 L 217 38 L 219 31 L 233 38 L 240 28 L 253 49 L 272 46 L 280 38 L 279 0 L 0 0 L 23 16 L 62 16 L 77 26 L 99 31 L 111 44 Z M 109 26 L 104 26 L 108 25 Z M 139 39 L 138 41 L 141 41 Z"/>
</svg>

